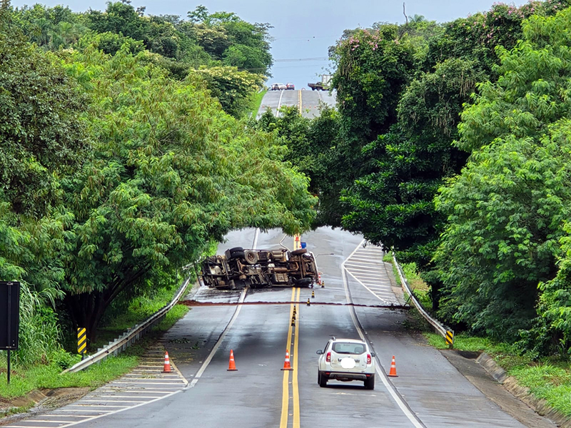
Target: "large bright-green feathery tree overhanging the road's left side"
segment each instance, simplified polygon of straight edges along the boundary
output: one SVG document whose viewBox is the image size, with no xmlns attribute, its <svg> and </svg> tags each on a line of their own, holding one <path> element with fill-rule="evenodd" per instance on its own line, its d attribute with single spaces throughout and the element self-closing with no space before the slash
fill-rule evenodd
<svg viewBox="0 0 571 428">
<path fill-rule="evenodd" d="M 266 133 L 223 113 L 202 81 L 173 81 L 146 54 L 75 52 L 94 99 L 94 161 L 64 180 L 74 215 L 66 305 L 91 338 L 110 303 L 197 260 L 211 240 L 255 226 L 304 230 L 315 200 Z"/>
</svg>

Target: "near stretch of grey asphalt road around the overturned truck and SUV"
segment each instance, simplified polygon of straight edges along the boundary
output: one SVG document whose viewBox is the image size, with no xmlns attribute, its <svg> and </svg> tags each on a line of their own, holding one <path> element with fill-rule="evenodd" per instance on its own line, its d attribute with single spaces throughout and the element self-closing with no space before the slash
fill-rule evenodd
<svg viewBox="0 0 571 428">
<path fill-rule="evenodd" d="M 260 234 L 240 230 L 227 238 L 219 253 L 235 246 L 279 248 L 281 240 L 289 248 L 293 244 L 291 237 L 276 230 Z M 161 345 L 180 378 L 171 374 L 171 379 L 157 379 L 165 390 L 148 385 L 151 393 L 146 395 L 156 399 L 142 403 L 126 398 L 135 392 L 118 389 L 126 383 L 120 379 L 116 389 L 106 387 L 118 395 L 112 404 L 96 404 L 93 412 L 103 408 L 96 418 L 58 419 L 66 409 L 85 405 L 80 400 L 10 426 L 525 427 L 487 399 L 422 337 L 408 332 L 405 310 L 372 307 L 403 302 L 379 248 L 363 246 L 359 236 L 330 228 L 307 233 L 302 240 L 316 255 L 325 287 L 251 290 L 247 295 L 205 287 L 194 290 L 188 300 L 226 305 L 191 307 L 163 337 Z M 227 305 L 241 299 L 246 305 Z M 353 307 L 349 301 L 370 307 Z M 323 349 L 332 335 L 362 336 L 372 343 L 379 367 L 375 389 L 366 390 L 360 382 L 318 386 L 315 351 Z M 231 350 L 237 371 L 227 370 Z M 281 370 L 286 350 L 293 371 Z M 398 377 L 387 378 L 384 373 L 393 355 Z M 153 382 L 141 378 L 140 382 Z M 181 387 L 181 382 L 188 384 Z M 91 394 L 101 397 L 98 390 Z M 105 410 L 105 406 L 110 407 Z"/>
</svg>

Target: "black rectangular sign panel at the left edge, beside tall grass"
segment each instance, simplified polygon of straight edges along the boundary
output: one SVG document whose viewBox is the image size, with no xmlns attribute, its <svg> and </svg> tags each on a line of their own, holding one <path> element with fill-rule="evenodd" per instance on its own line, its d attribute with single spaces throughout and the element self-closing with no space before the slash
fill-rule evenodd
<svg viewBox="0 0 571 428">
<path fill-rule="evenodd" d="M 20 283 L 0 281 L 0 350 L 18 350 Z"/>
</svg>

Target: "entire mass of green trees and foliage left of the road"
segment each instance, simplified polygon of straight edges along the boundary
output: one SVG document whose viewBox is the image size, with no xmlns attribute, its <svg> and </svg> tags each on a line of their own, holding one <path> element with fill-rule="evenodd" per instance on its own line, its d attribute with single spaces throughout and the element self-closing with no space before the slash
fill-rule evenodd
<svg viewBox="0 0 571 428">
<path fill-rule="evenodd" d="M 230 230 L 310 227 L 316 200 L 283 142 L 233 117 L 260 75 L 158 52 L 154 24 L 168 21 L 267 53 L 266 26 L 204 14 L 157 21 L 125 2 L 87 14 L 2 2 L 0 275 L 24 285 L 19 363 L 60 359 L 62 326 L 93 340 L 110 305 L 176 286 Z M 62 23 L 79 33 L 56 46 Z"/>
</svg>

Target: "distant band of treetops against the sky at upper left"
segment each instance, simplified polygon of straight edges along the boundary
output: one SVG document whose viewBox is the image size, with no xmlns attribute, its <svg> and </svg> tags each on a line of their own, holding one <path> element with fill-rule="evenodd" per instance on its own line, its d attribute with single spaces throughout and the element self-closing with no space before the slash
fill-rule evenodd
<svg viewBox="0 0 571 428">
<path fill-rule="evenodd" d="M 85 49 L 95 41 L 104 53 L 116 54 L 127 44 L 133 54 L 143 49 L 157 54 L 149 61 L 180 80 L 200 68 L 213 96 L 236 117 L 246 113 L 273 63 L 269 24 L 251 24 L 228 12 L 209 14 L 204 6 L 189 11 L 184 20 L 146 16 L 144 7 L 135 9 L 128 0 L 85 13 L 35 4 L 16 9 L 13 20 L 45 50 Z"/>
</svg>

